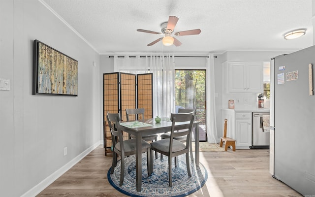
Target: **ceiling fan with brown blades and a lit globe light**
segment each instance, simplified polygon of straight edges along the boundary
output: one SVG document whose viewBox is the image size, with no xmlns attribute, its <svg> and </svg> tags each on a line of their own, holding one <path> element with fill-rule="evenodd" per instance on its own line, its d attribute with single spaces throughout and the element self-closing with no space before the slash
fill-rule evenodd
<svg viewBox="0 0 315 197">
<path fill-rule="evenodd" d="M 157 40 L 149 43 L 147 46 L 152 46 L 160 40 L 162 40 L 162 42 L 165 46 L 170 46 L 172 44 L 174 44 L 175 46 L 180 46 L 180 45 L 182 45 L 182 42 L 180 42 L 178 39 L 176 39 L 174 37 L 175 35 L 176 36 L 196 35 L 196 34 L 199 34 L 201 32 L 200 29 L 195 29 L 195 30 L 187 30 L 187 31 L 173 33 L 177 21 L 178 21 L 178 18 L 176 16 L 170 16 L 168 18 L 167 22 L 164 22 L 161 24 L 161 28 L 162 28 L 161 32 L 162 33 L 153 32 L 153 31 L 149 31 L 149 30 L 142 30 L 142 29 L 137 29 L 137 31 L 138 32 L 144 32 L 144 33 L 154 33 L 154 34 L 158 34 L 158 35 L 164 35 L 164 37 L 158 38 Z"/>
</svg>

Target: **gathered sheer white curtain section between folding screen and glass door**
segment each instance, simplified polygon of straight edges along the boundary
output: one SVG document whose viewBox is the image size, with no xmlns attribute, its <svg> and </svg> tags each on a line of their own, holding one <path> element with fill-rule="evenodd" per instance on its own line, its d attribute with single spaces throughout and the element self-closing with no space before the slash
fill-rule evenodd
<svg viewBox="0 0 315 197">
<path fill-rule="evenodd" d="M 175 112 L 174 55 L 151 55 L 147 63 L 153 72 L 153 115 L 169 117 Z"/>
</svg>

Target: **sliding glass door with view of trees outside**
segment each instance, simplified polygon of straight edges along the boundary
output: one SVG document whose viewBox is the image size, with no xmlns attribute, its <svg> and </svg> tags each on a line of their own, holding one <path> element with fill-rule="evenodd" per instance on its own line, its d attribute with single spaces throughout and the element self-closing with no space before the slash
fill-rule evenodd
<svg viewBox="0 0 315 197">
<path fill-rule="evenodd" d="M 199 141 L 207 141 L 206 70 L 175 70 L 175 105 L 176 110 L 196 109 L 196 120 L 200 121 Z"/>
</svg>

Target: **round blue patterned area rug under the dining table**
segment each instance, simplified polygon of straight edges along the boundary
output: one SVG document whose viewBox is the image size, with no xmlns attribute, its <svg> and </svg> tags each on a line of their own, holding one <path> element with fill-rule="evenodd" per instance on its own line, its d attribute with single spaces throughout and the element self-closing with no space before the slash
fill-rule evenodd
<svg viewBox="0 0 315 197">
<path fill-rule="evenodd" d="M 151 176 L 148 176 L 147 155 L 142 155 L 142 188 L 141 192 L 136 191 L 136 167 L 135 156 L 125 159 L 124 185 L 119 186 L 120 161 L 115 167 L 114 173 L 108 170 L 107 178 L 109 183 L 121 193 L 130 197 L 185 197 L 199 190 L 207 181 L 208 174 L 205 167 L 200 163 L 196 166 L 190 161 L 191 177 L 188 176 L 185 154 L 179 156 L 179 164 L 174 167 L 172 159 L 172 187 L 168 183 L 168 157 L 163 160 L 154 159 L 154 168 Z"/>
</svg>

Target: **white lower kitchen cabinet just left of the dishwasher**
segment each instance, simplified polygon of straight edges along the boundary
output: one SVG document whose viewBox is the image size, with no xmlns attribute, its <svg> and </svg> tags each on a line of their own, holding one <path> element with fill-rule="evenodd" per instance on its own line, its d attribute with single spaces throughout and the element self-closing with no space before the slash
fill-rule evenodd
<svg viewBox="0 0 315 197">
<path fill-rule="evenodd" d="M 235 116 L 236 148 L 249 149 L 252 146 L 252 112 L 236 112 Z"/>
</svg>

